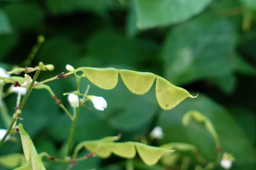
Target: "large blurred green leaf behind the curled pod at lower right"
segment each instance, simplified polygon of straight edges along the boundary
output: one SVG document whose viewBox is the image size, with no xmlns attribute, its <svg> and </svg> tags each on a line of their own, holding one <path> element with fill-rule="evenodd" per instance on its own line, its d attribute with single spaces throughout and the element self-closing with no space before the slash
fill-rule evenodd
<svg viewBox="0 0 256 170">
<path fill-rule="evenodd" d="M 214 139 L 203 125 L 192 121 L 189 128 L 183 127 L 182 116 L 190 110 L 200 111 L 212 121 L 220 138 L 222 150 L 232 153 L 236 159 L 232 169 L 254 169 L 256 150 L 252 140 L 244 134 L 226 109 L 202 94 L 196 99 L 185 100 L 171 111 L 162 111 L 158 120 L 158 125 L 163 128 L 165 134 L 162 144 L 190 143 L 196 146 L 202 157 L 208 160 L 217 158 Z"/>
</svg>

